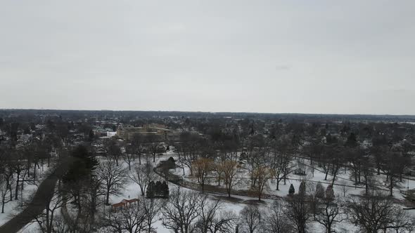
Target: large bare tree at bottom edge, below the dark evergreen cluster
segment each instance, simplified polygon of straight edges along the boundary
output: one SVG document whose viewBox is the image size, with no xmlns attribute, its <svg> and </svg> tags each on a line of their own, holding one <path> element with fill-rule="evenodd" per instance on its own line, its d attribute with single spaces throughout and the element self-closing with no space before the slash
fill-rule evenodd
<svg viewBox="0 0 415 233">
<path fill-rule="evenodd" d="M 173 232 L 190 233 L 200 212 L 200 194 L 193 191 L 175 190 L 162 207 L 162 225 Z"/>
</svg>

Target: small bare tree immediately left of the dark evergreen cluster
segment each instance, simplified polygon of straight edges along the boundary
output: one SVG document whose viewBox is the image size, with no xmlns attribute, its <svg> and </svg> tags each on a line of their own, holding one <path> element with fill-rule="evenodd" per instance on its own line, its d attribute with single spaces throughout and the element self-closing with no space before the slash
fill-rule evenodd
<svg viewBox="0 0 415 233">
<path fill-rule="evenodd" d="M 155 179 L 153 165 L 146 163 L 134 166 L 134 171 L 128 173 L 128 177 L 140 187 L 141 195 L 146 193 L 148 182 Z"/>
</svg>

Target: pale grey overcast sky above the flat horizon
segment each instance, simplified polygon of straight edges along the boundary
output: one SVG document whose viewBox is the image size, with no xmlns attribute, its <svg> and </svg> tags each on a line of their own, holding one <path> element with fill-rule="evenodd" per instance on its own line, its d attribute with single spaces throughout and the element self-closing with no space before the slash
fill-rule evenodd
<svg viewBox="0 0 415 233">
<path fill-rule="evenodd" d="M 415 114 L 414 9 L 0 0 L 0 108 Z"/>
</svg>

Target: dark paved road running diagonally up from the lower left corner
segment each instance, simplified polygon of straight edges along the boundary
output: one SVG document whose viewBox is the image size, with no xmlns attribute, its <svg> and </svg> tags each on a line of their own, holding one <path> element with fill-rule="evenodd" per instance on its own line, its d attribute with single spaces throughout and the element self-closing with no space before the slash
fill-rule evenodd
<svg viewBox="0 0 415 233">
<path fill-rule="evenodd" d="M 0 233 L 15 233 L 30 223 L 35 215 L 43 212 L 46 203 L 46 197 L 53 195 L 58 177 L 67 171 L 71 164 L 70 158 L 65 159 L 61 164 L 56 166 L 55 170 L 39 185 L 32 201 L 27 205 L 24 211 L 6 222 L 0 227 Z"/>
</svg>

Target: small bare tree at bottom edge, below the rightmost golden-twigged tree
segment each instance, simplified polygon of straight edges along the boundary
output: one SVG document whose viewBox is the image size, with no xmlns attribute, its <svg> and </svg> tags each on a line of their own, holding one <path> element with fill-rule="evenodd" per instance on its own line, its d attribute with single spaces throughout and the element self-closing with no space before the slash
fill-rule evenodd
<svg viewBox="0 0 415 233">
<path fill-rule="evenodd" d="M 254 233 L 260 230 L 260 225 L 262 223 L 262 213 L 257 206 L 245 206 L 239 215 L 241 217 L 241 232 Z"/>
</svg>

